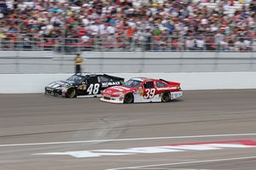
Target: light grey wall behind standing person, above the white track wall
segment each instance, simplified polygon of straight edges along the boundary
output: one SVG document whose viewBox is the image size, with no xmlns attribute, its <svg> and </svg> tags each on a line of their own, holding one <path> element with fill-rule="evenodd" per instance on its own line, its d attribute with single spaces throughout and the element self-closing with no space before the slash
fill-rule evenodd
<svg viewBox="0 0 256 170">
<path fill-rule="evenodd" d="M 73 73 L 74 54 L 0 51 L 0 74 Z M 256 71 L 255 53 L 84 52 L 86 72 L 240 72 Z"/>
</svg>

